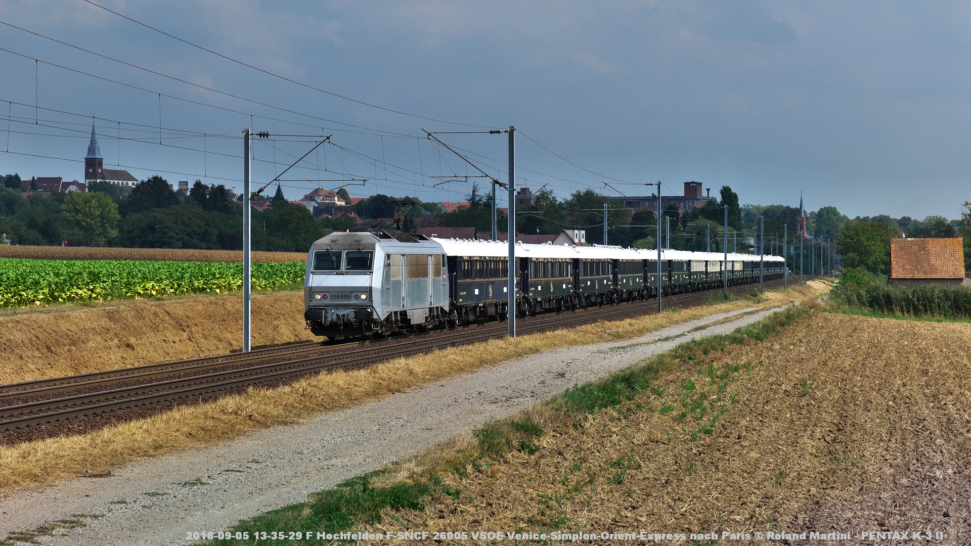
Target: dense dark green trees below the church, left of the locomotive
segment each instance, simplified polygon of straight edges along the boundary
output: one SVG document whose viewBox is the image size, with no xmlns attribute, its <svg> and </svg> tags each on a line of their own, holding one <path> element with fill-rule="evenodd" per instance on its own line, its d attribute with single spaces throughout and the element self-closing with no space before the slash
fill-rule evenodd
<svg viewBox="0 0 971 546">
<path fill-rule="evenodd" d="M 252 248 L 304 252 L 323 235 L 306 207 L 283 198 L 252 211 Z M 153 176 L 130 191 L 95 182 L 87 192 L 24 194 L 0 188 L 0 231 L 12 244 L 133 248 L 243 248 L 243 206 L 222 185 L 196 181 L 180 199 Z"/>
</svg>

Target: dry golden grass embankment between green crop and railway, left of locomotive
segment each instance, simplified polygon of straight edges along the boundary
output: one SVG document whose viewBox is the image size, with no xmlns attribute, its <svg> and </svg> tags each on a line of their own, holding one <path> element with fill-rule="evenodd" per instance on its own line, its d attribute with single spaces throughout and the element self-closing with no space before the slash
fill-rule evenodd
<svg viewBox="0 0 971 546">
<path fill-rule="evenodd" d="M 252 344 L 315 339 L 303 292 L 252 296 Z M 66 308 L 65 308 L 66 307 Z M 4 383 L 225 354 L 243 347 L 243 296 L 28 308 L 0 315 Z"/>
</svg>

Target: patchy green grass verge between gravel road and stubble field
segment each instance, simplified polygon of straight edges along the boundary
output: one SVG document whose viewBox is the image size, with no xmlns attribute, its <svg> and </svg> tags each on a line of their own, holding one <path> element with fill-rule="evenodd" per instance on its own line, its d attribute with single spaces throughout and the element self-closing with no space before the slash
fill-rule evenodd
<svg viewBox="0 0 971 546">
<path fill-rule="evenodd" d="M 779 334 L 783 328 L 809 317 L 812 309 L 811 305 L 788 307 L 785 311 L 774 313 L 762 321 L 740 327 L 731 333 L 687 341 L 667 353 L 563 392 L 546 402 L 523 410 L 516 416 L 486 423 L 471 434 L 452 439 L 451 442 L 419 456 L 406 461 L 395 461 L 385 468 L 312 495 L 305 502 L 278 508 L 230 529 L 233 536 L 236 531 L 249 532 L 249 540 L 217 538 L 205 544 L 299 545 L 311 544 L 316 540 L 274 540 L 272 533 L 277 529 L 299 530 L 302 533 L 312 531 L 315 536 L 317 532 L 330 533 L 335 541 L 352 542 L 354 540 L 350 537 L 342 539 L 340 533 L 357 532 L 363 526 L 381 524 L 389 514 L 388 510 L 391 513 L 403 509 L 423 511 L 424 501 L 431 495 L 458 498 L 462 494 L 461 481 L 471 472 L 485 471 L 489 462 L 506 460 L 512 453 L 535 455 L 539 449 L 536 440 L 547 429 L 580 427 L 581 418 L 595 418 L 602 410 L 616 410 L 621 405 L 629 406 L 642 394 L 652 392 L 663 395 L 663 391 L 652 387 L 653 381 L 662 372 L 701 369 L 716 383 L 717 389 L 723 392 L 729 376 L 737 373 L 739 366 L 734 369 L 730 366 L 716 368 L 706 362 L 707 355 L 720 352 L 730 345 L 763 342 Z M 714 417 L 707 423 L 702 422 L 706 413 L 709 413 L 705 402 L 710 392 L 701 391 L 690 379 L 682 384 L 682 389 L 686 391 L 682 396 L 682 406 L 686 411 L 682 412 L 681 419 L 690 415 L 701 423 L 699 429 L 691 433 L 692 440 L 700 433 L 710 434 L 714 431 L 720 415 L 712 412 Z M 714 408 L 714 402 L 708 403 Z M 624 413 L 629 416 L 632 412 L 644 409 L 644 404 L 637 403 L 626 408 Z M 666 413 L 663 408 L 661 411 Z M 616 461 L 616 471 L 609 478 L 611 483 L 622 483 L 632 464 L 630 458 Z M 553 529 L 568 522 L 569 518 L 565 515 L 558 517 Z"/>
</svg>

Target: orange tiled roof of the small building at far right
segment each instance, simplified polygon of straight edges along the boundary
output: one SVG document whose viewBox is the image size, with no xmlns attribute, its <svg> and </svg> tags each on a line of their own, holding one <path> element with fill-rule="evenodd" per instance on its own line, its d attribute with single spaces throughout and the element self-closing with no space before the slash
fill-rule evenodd
<svg viewBox="0 0 971 546">
<path fill-rule="evenodd" d="M 949 239 L 890 239 L 891 279 L 963 279 L 964 247 Z"/>
</svg>

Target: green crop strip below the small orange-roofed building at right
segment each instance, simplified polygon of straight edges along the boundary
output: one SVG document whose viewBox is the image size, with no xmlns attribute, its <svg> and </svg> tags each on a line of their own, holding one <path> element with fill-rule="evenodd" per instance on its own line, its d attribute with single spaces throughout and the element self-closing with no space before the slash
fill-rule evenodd
<svg viewBox="0 0 971 546">
<path fill-rule="evenodd" d="M 850 283 L 834 288 L 830 297 L 854 309 L 890 317 L 971 319 L 971 289 L 962 287 Z"/>
</svg>

